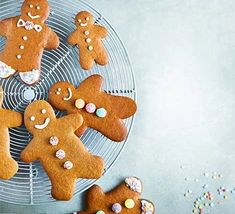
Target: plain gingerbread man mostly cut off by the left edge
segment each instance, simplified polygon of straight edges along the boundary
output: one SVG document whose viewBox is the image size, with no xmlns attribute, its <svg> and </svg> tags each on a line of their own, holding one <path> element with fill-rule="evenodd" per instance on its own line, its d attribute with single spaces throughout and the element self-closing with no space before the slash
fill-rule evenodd
<svg viewBox="0 0 235 214">
<path fill-rule="evenodd" d="M 3 89 L 0 87 L 0 178 L 10 179 L 18 171 L 17 162 L 10 154 L 10 136 L 8 128 L 22 125 L 23 117 L 20 113 L 3 109 Z"/>
</svg>

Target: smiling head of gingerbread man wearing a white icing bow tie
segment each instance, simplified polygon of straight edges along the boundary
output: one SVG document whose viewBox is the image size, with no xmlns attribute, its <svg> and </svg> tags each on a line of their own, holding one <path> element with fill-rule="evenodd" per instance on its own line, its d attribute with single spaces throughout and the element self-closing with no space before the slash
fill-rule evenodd
<svg viewBox="0 0 235 214">
<path fill-rule="evenodd" d="M 21 7 L 21 16 L 33 22 L 45 22 L 50 14 L 47 0 L 25 0 Z"/>
</svg>

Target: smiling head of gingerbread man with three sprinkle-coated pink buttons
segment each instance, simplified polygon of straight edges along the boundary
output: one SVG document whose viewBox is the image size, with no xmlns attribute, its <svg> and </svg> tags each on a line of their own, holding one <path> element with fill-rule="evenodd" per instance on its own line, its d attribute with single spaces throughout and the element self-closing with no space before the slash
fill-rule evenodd
<svg viewBox="0 0 235 214">
<path fill-rule="evenodd" d="M 45 130 L 55 118 L 53 108 L 49 103 L 42 100 L 35 101 L 29 105 L 24 114 L 25 126 L 32 134 L 35 131 Z"/>
</svg>

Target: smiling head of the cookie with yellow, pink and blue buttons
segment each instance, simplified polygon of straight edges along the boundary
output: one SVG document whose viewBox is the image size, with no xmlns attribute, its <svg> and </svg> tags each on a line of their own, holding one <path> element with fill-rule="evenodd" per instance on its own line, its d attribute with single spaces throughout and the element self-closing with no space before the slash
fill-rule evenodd
<svg viewBox="0 0 235 214">
<path fill-rule="evenodd" d="M 50 97 L 53 97 L 51 100 L 54 106 L 58 106 L 60 111 L 64 111 L 72 107 L 75 87 L 68 82 L 58 82 L 50 88 Z"/>
</svg>

